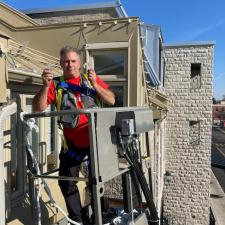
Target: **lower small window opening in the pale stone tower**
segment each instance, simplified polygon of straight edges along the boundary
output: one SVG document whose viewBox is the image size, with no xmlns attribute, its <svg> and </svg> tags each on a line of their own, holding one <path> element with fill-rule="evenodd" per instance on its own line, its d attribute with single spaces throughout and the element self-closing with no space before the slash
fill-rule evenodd
<svg viewBox="0 0 225 225">
<path fill-rule="evenodd" d="M 198 145 L 200 141 L 200 121 L 189 121 L 189 144 Z"/>
</svg>

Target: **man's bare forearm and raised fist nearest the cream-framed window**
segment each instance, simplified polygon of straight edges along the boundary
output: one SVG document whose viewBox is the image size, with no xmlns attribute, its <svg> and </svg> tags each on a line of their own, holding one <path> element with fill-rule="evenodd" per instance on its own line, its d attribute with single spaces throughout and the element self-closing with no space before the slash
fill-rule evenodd
<svg viewBox="0 0 225 225">
<path fill-rule="evenodd" d="M 89 70 L 88 73 L 88 79 L 91 81 L 93 87 L 95 88 L 97 94 L 99 97 L 108 105 L 114 105 L 115 104 L 115 95 L 112 91 L 109 89 L 103 88 L 101 85 L 99 85 L 96 81 L 96 73 L 94 70 Z"/>
</svg>

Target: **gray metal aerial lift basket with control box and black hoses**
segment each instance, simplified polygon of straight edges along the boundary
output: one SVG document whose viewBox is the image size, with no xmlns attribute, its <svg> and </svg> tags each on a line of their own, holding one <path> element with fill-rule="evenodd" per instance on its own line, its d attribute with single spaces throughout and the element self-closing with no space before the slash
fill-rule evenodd
<svg viewBox="0 0 225 225">
<path fill-rule="evenodd" d="M 102 221 L 102 207 L 101 197 L 104 195 L 104 184 L 113 178 L 126 175 L 128 180 L 132 180 L 136 183 L 137 188 L 140 188 L 143 192 L 146 202 L 146 208 L 139 210 L 136 216 L 132 216 L 132 222 L 135 225 L 156 225 L 159 224 L 159 218 L 156 211 L 155 204 L 153 202 L 152 191 L 145 179 L 142 163 L 141 163 L 141 149 L 140 149 L 140 134 L 146 133 L 154 128 L 153 114 L 149 107 L 118 107 L 118 108 L 93 108 L 93 109 L 81 109 L 81 110 L 66 110 L 60 112 L 42 112 L 23 114 L 22 120 L 25 124 L 25 137 L 28 137 L 29 132 L 34 128 L 31 125 L 31 120 L 40 117 L 55 117 L 55 116 L 70 116 L 72 114 L 86 114 L 89 120 L 89 141 L 90 141 L 90 161 L 92 177 L 88 182 L 91 183 L 94 201 L 94 215 L 95 224 L 103 225 Z M 87 181 L 86 178 L 71 178 L 71 177 L 53 177 L 51 173 L 41 174 L 38 171 L 35 159 L 32 155 L 32 149 L 30 149 L 28 138 L 26 139 L 27 153 L 31 158 L 30 172 L 32 178 L 42 179 L 73 179 Z M 121 159 L 123 163 L 121 164 Z M 132 176 L 131 174 L 134 174 Z M 136 178 L 133 180 L 133 178 Z M 128 182 L 129 183 L 129 182 Z M 45 182 L 44 182 L 45 184 Z M 129 185 L 123 185 L 125 186 Z M 45 187 L 49 192 L 49 198 L 51 199 L 50 189 Z M 132 199 L 128 194 L 132 190 L 123 191 L 126 196 L 124 197 L 125 211 L 134 210 Z M 33 203 L 36 207 L 33 207 L 34 214 L 37 215 L 35 223 L 41 224 L 41 211 L 38 206 L 38 197 L 35 192 L 35 187 L 31 185 L 31 195 L 33 196 Z M 129 212 L 127 212 L 129 213 Z M 133 214 L 132 214 L 133 215 Z M 35 224 L 35 225 L 36 225 Z M 64 225 L 66 223 L 61 222 Z M 76 224 L 72 223 L 71 224 Z M 111 221 L 108 224 L 120 224 Z M 122 223 L 121 223 L 122 224 Z M 125 223 L 123 223 L 125 224 Z"/>
</svg>

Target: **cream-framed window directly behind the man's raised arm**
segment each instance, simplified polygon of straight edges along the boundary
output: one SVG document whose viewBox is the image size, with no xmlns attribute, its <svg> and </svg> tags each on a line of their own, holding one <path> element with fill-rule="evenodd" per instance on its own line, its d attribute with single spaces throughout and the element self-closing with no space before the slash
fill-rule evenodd
<svg viewBox="0 0 225 225">
<path fill-rule="evenodd" d="M 116 97 L 116 107 L 127 105 L 127 43 L 89 44 L 87 62 L 110 85 Z"/>
</svg>

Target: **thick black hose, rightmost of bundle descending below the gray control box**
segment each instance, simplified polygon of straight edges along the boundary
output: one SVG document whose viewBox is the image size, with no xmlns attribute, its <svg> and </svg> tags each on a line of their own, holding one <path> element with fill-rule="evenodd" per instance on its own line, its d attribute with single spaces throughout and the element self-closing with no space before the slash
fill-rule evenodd
<svg viewBox="0 0 225 225">
<path fill-rule="evenodd" d="M 140 163 L 138 162 L 136 157 L 134 157 L 133 149 L 130 149 L 130 148 L 128 149 L 129 149 L 128 151 L 124 151 L 124 156 L 127 159 L 127 161 L 130 163 L 131 167 L 134 169 L 134 172 L 136 173 L 141 189 L 145 196 L 146 202 L 149 206 L 149 211 L 150 211 L 149 225 L 158 225 L 159 217 L 158 217 L 157 210 L 153 201 L 152 192 L 148 188 L 148 184 L 145 179 L 144 173 L 141 169 Z"/>
</svg>

